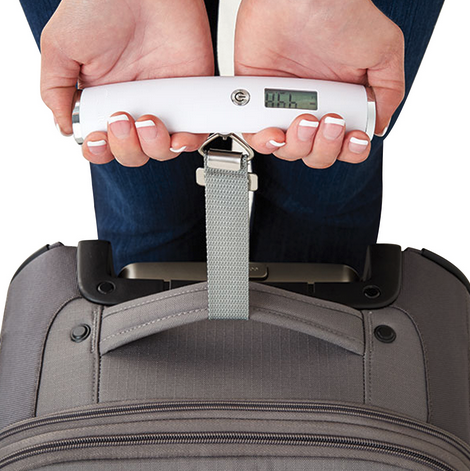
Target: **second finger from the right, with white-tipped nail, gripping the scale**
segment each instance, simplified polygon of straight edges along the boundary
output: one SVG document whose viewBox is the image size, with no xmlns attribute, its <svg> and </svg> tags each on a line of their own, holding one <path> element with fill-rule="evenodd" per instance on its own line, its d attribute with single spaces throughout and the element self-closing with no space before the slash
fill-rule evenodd
<svg viewBox="0 0 470 471">
<path fill-rule="evenodd" d="M 345 121 L 337 114 L 326 115 L 320 121 L 312 152 L 302 160 L 312 168 L 328 168 L 336 162 L 343 147 Z"/>
</svg>

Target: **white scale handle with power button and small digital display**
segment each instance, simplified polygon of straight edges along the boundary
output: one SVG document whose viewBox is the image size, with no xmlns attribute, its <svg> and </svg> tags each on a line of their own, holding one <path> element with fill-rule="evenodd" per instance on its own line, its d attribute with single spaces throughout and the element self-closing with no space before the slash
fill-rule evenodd
<svg viewBox="0 0 470 471">
<path fill-rule="evenodd" d="M 299 96 L 315 98 L 307 103 Z M 370 138 L 376 117 L 372 90 L 362 85 L 290 77 L 179 77 L 78 91 L 72 115 L 76 141 L 106 131 L 108 118 L 118 111 L 135 119 L 155 115 L 170 133 L 220 134 L 286 130 L 300 114 L 321 119 L 337 113 L 346 131 L 365 131 Z"/>
</svg>

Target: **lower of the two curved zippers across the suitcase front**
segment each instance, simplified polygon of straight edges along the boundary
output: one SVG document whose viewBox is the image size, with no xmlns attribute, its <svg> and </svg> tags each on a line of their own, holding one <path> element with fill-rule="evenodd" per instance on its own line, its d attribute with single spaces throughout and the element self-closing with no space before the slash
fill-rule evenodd
<svg viewBox="0 0 470 471">
<path fill-rule="evenodd" d="M 373 451 L 405 458 L 431 467 L 437 471 L 455 471 L 440 460 L 415 450 L 388 445 L 375 440 L 354 439 L 314 434 L 288 433 L 238 433 L 238 432 L 199 432 L 199 433 L 146 433 L 129 435 L 111 435 L 99 437 L 81 437 L 56 440 L 32 446 L 13 453 L 0 460 L 0 469 L 26 458 L 33 458 L 44 453 L 62 452 L 89 447 L 139 446 L 139 445 L 288 445 L 288 446 L 322 446 L 351 449 L 355 451 Z"/>
</svg>

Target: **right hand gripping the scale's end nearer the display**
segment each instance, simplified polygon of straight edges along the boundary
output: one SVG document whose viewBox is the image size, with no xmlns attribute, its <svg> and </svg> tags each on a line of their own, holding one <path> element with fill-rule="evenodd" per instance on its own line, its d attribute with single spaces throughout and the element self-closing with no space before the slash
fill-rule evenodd
<svg viewBox="0 0 470 471">
<path fill-rule="evenodd" d="M 235 74 L 290 76 L 360 83 L 373 88 L 375 132 L 383 134 L 404 96 L 404 39 L 370 0 L 243 0 L 235 35 Z M 326 168 L 364 161 L 364 132 L 345 135 L 338 115 L 298 117 L 287 133 L 269 128 L 245 135 L 258 152 Z"/>
</svg>

